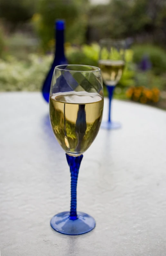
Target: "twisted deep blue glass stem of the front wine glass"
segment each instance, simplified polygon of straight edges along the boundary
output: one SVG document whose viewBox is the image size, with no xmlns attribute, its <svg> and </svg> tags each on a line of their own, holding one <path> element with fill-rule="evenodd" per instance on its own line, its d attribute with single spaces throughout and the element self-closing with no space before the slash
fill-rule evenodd
<svg viewBox="0 0 166 256">
<path fill-rule="evenodd" d="M 66 154 L 66 158 L 70 167 L 71 175 L 71 204 L 70 204 L 70 219 L 77 219 L 77 180 L 79 167 L 83 158 L 83 155 L 74 157 Z"/>
</svg>

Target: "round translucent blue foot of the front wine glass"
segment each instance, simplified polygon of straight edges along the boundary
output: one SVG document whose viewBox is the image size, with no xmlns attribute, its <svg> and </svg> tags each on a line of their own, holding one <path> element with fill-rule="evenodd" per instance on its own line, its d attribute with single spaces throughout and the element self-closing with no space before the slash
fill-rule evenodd
<svg viewBox="0 0 166 256">
<path fill-rule="evenodd" d="M 96 226 L 96 222 L 90 215 L 77 212 L 77 218 L 70 219 L 70 212 L 61 212 L 52 217 L 51 227 L 65 235 L 81 235 L 91 231 Z"/>
</svg>

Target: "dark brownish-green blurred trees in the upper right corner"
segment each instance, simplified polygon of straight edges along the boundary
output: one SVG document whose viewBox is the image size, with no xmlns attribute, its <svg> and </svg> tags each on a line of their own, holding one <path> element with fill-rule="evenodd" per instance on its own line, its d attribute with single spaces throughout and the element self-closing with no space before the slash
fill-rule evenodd
<svg viewBox="0 0 166 256">
<path fill-rule="evenodd" d="M 165 47 L 166 6 L 155 0 L 111 0 L 108 5 L 91 6 L 89 25 L 92 40 L 139 37 Z"/>
</svg>

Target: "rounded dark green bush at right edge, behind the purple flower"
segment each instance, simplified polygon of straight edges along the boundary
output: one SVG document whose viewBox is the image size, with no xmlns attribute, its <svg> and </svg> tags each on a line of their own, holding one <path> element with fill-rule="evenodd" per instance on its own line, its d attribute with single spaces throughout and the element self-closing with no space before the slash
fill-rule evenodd
<svg viewBox="0 0 166 256">
<path fill-rule="evenodd" d="M 133 61 L 139 63 L 143 55 L 148 55 L 152 62 L 152 69 L 155 74 L 166 72 L 166 52 L 153 45 L 135 45 L 133 47 Z"/>
</svg>

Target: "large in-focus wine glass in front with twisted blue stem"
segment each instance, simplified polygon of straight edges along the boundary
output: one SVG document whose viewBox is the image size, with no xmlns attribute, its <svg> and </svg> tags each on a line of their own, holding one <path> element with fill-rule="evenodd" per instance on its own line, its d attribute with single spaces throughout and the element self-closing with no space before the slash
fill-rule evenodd
<svg viewBox="0 0 166 256">
<path fill-rule="evenodd" d="M 52 76 L 50 121 L 53 133 L 66 151 L 71 174 L 70 211 L 51 219 L 51 227 L 66 235 L 80 235 L 95 228 L 90 215 L 77 212 L 77 179 L 84 153 L 100 128 L 104 96 L 100 69 L 86 65 L 59 65 Z"/>
</svg>

